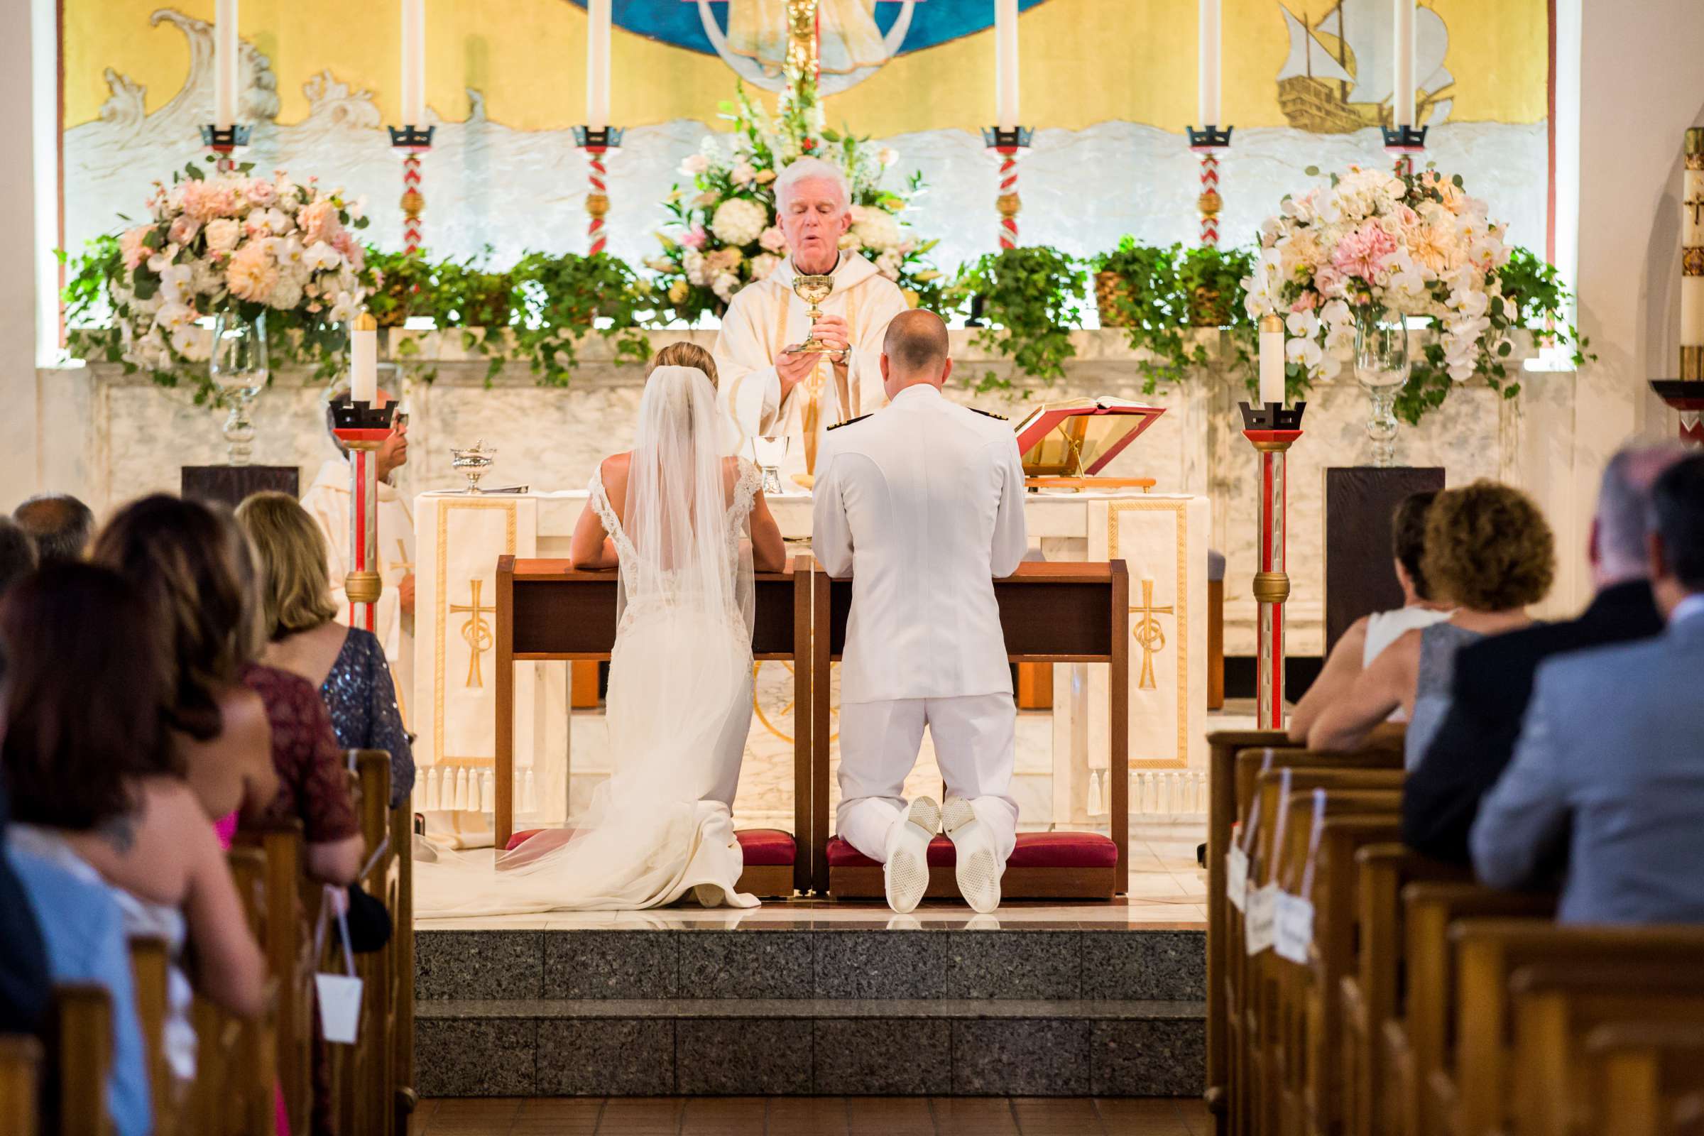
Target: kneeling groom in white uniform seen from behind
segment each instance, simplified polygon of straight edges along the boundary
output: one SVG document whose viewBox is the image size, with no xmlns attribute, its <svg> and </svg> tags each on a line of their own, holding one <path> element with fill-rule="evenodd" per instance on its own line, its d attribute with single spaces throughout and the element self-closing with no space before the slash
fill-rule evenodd
<svg viewBox="0 0 1704 1136">
<path fill-rule="evenodd" d="M 1017 833 L 1017 710 L 993 581 L 1024 559 L 1024 470 L 1002 421 L 947 402 L 947 329 L 901 312 L 881 349 L 889 405 L 825 439 L 811 548 L 852 577 L 840 671 L 840 836 L 879 860 L 895 911 L 929 887 L 929 841 L 946 831 L 958 886 L 1000 906 Z M 924 726 L 946 806 L 907 804 Z"/>
</svg>

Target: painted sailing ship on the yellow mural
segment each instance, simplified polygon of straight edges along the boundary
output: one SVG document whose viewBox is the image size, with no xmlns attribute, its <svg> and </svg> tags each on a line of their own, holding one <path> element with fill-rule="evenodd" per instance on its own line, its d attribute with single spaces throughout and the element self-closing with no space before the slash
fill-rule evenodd
<svg viewBox="0 0 1704 1136">
<path fill-rule="evenodd" d="M 1283 3 L 1290 31 L 1290 55 L 1278 72 L 1278 106 L 1290 126 L 1315 135 L 1348 135 L 1368 126 L 1394 126 L 1390 104 L 1392 10 L 1389 0 L 1339 0 L 1319 19 L 1307 9 L 1297 15 Z M 1442 123 L 1450 116 L 1455 77 L 1443 66 L 1450 32 L 1428 7 L 1414 10 L 1413 126 Z"/>
</svg>

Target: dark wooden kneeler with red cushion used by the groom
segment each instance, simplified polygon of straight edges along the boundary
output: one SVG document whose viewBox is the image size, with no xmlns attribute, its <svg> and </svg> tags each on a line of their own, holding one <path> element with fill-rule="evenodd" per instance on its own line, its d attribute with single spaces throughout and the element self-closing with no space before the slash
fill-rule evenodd
<svg viewBox="0 0 1704 1136">
<path fill-rule="evenodd" d="M 881 899 L 883 870 L 843 840 L 828 840 L 828 666 L 845 651 L 852 581 L 830 579 L 813 562 L 816 635 L 811 642 L 818 729 L 811 749 L 811 875 L 837 899 Z M 1005 863 L 1005 899 L 1111 899 L 1130 889 L 1130 574 L 1109 564 L 1026 562 L 993 581 L 1012 663 L 1109 663 L 1111 838 L 1099 833 L 1019 833 Z M 925 898 L 958 898 L 954 848 L 929 848 Z"/>
</svg>

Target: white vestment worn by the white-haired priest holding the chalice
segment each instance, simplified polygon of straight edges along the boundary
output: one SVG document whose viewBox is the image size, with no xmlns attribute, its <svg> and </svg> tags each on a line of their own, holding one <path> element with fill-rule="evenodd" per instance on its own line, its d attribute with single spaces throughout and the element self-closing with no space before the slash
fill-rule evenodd
<svg viewBox="0 0 1704 1136">
<path fill-rule="evenodd" d="M 907 308 L 898 286 L 855 252 L 840 254 L 833 278 L 835 290 L 821 310 L 847 322 L 852 353 L 843 383 L 826 358 L 816 364 L 821 380 L 815 438 L 818 451 L 823 431 L 830 426 L 879 410 L 888 402 L 881 392 L 881 341 L 888 334 L 888 320 Z M 731 421 L 731 445 L 750 458 L 750 438 L 786 434 L 791 443 L 782 472 L 789 475 L 808 470 L 804 407 L 811 380 L 801 380 L 782 399 L 775 359 L 809 337 L 808 313 L 809 305 L 792 291 L 789 257 L 769 278 L 753 281 L 734 295 L 714 349 L 717 402 Z"/>
</svg>

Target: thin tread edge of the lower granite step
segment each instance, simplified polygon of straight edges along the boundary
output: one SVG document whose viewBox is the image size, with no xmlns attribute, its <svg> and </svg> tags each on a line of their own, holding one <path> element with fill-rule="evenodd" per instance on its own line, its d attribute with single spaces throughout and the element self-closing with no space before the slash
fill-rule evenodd
<svg viewBox="0 0 1704 1136">
<path fill-rule="evenodd" d="M 414 1003 L 416 1020 L 1205 1020 L 1205 1001 L 1166 1000 L 997 1000 L 997 998 L 586 998 L 472 1000 Z"/>
</svg>

